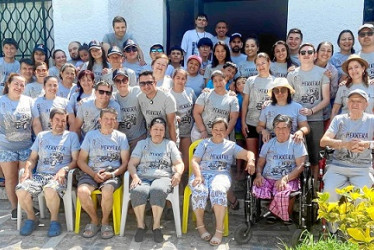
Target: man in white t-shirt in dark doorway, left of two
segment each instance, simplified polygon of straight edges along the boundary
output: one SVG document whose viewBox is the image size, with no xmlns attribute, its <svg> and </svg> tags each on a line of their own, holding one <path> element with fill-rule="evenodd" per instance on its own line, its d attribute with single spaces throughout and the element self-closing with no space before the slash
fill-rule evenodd
<svg viewBox="0 0 374 250">
<path fill-rule="evenodd" d="M 188 30 L 184 33 L 181 47 L 186 52 L 184 65 L 187 65 L 187 58 L 191 55 L 199 55 L 197 43 L 201 38 L 207 37 L 212 39 L 213 35 L 206 32 L 208 26 L 208 17 L 205 14 L 198 14 L 195 19 L 195 29 Z"/>
</svg>

